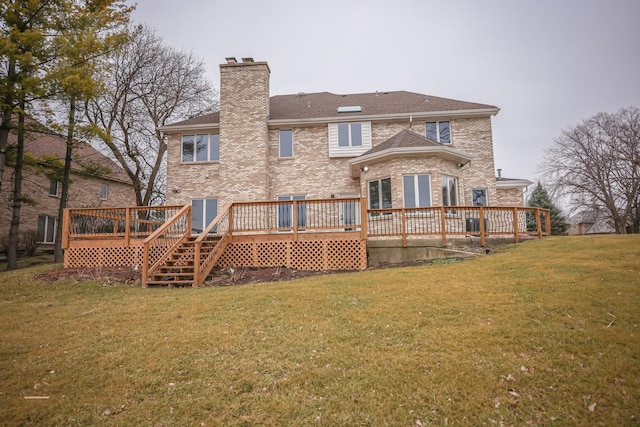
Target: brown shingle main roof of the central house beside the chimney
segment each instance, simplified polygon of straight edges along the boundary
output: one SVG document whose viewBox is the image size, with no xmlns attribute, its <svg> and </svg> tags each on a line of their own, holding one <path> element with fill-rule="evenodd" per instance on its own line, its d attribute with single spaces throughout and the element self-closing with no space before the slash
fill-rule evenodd
<svg viewBox="0 0 640 427">
<path fill-rule="evenodd" d="M 358 107 L 339 112 L 340 107 Z M 356 111 L 354 111 L 356 110 Z M 278 95 L 270 98 L 269 124 L 326 121 L 371 120 L 375 118 L 450 117 L 455 115 L 497 114 L 493 105 L 428 96 L 420 93 L 373 92 L 337 95 L 329 92 Z M 220 113 L 183 120 L 163 126 L 163 131 L 217 127 Z"/>
</svg>

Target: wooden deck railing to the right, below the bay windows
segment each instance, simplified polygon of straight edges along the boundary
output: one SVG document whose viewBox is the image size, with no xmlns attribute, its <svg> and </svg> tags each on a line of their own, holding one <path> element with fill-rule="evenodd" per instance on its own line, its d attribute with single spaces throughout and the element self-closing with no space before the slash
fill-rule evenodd
<svg viewBox="0 0 640 427">
<path fill-rule="evenodd" d="M 549 211 L 525 207 L 440 206 L 424 208 L 369 209 L 369 237 L 407 238 L 440 236 L 477 236 L 481 245 L 490 235 L 542 237 L 551 234 Z"/>
</svg>

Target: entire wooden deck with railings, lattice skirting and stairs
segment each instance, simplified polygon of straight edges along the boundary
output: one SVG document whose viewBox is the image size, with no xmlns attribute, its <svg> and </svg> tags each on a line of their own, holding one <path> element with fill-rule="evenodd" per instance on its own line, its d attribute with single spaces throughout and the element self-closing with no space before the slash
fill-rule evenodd
<svg viewBox="0 0 640 427">
<path fill-rule="evenodd" d="M 368 239 L 542 237 L 549 212 L 523 207 L 367 209 L 366 199 L 233 203 L 205 230 L 191 206 L 67 209 L 65 267 L 127 266 L 143 286 L 200 286 L 215 266 L 367 268 Z"/>
</svg>

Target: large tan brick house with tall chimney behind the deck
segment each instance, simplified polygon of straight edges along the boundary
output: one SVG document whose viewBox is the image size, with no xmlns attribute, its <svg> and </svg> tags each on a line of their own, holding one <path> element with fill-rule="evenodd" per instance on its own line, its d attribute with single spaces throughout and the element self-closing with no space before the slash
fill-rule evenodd
<svg viewBox="0 0 640 427">
<path fill-rule="evenodd" d="M 227 203 L 366 197 L 370 209 L 523 206 L 494 175 L 493 105 L 419 93 L 270 96 L 266 62 L 220 66 L 220 112 L 160 128 L 167 205 L 202 229 Z"/>
</svg>

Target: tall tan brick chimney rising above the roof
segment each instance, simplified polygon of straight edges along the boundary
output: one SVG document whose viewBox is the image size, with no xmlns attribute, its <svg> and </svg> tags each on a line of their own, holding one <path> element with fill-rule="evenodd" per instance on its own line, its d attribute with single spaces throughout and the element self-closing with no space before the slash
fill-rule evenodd
<svg viewBox="0 0 640 427">
<path fill-rule="evenodd" d="M 220 203 L 267 200 L 269 65 L 220 65 Z"/>
</svg>

